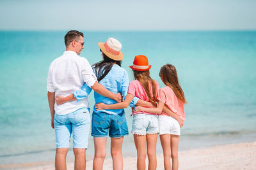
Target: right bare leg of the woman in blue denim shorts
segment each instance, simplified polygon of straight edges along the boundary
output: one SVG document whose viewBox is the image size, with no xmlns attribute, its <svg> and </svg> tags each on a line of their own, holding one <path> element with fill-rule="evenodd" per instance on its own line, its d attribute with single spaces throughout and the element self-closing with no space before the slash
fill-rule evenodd
<svg viewBox="0 0 256 170">
<path fill-rule="evenodd" d="M 123 169 L 123 156 L 122 156 L 122 138 L 111 138 L 111 156 L 113 160 L 113 169 Z"/>
</svg>

